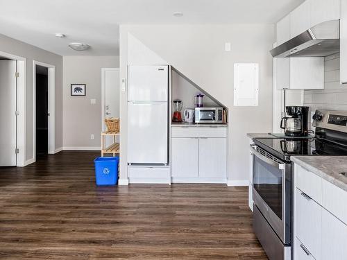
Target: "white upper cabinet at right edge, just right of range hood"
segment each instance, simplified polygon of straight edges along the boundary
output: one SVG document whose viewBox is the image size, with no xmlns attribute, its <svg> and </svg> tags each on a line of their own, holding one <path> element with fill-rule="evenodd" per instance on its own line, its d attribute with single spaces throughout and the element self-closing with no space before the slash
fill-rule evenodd
<svg viewBox="0 0 347 260">
<path fill-rule="evenodd" d="M 347 1 L 341 1 L 340 81 L 341 84 L 347 84 Z"/>
</svg>

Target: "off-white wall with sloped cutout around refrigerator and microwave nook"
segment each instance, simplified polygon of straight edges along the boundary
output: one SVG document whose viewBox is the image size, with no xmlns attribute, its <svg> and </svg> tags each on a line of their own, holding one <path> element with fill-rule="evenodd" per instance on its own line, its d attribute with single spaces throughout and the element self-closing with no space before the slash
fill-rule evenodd
<svg viewBox="0 0 347 260">
<path fill-rule="evenodd" d="M 273 25 L 225 26 L 120 26 L 120 75 L 126 78 L 128 33 L 158 57 L 178 69 L 196 85 L 229 108 L 228 178 L 248 179 L 247 132 L 271 132 Z M 224 51 L 231 43 L 232 51 Z M 260 64 L 257 107 L 233 106 L 233 66 L 236 62 Z M 121 93 L 121 169 L 126 177 L 126 92 Z"/>
</svg>

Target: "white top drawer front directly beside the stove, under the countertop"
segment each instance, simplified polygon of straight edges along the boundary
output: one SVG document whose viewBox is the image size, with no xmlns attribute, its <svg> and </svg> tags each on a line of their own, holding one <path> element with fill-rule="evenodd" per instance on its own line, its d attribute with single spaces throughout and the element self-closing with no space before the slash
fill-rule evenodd
<svg viewBox="0 0 347 260">
<path fill-rule="evenodd" d="M 295 186 L 321 205 L 322 204 L 322 179 L 318 175 L 294 164 Z"/>
</svg>

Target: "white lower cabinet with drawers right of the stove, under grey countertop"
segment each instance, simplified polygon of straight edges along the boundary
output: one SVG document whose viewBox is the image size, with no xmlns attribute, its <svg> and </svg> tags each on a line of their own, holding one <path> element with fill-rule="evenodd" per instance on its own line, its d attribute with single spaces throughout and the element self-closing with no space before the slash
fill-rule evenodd
<svg viewBox="0 0 347 260">
<path fill-rule="evenodd" d="M 347 259 L 346 196 L 294 164 L 294 260 Z"/>
</svg>

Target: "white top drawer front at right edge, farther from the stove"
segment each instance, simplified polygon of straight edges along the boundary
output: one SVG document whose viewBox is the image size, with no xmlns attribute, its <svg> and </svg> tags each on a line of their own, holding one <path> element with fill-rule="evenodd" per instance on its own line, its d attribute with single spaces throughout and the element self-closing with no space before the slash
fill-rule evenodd
<svg viewBox="0 0 347 260">
<path fill-rule="evenodd" d="M 343 189 L 340 189 L 334 184 L 323 179 L 322 187 L 322 206 L 339 218 L 339 220 L 347 224 L 347 191 L 344 191 Z"/>
</svg>

